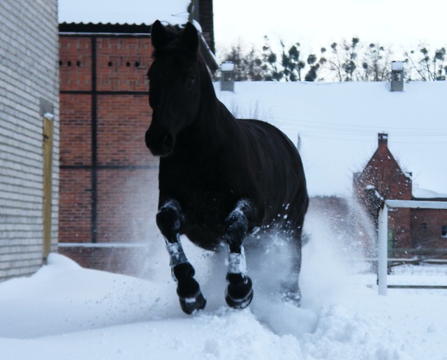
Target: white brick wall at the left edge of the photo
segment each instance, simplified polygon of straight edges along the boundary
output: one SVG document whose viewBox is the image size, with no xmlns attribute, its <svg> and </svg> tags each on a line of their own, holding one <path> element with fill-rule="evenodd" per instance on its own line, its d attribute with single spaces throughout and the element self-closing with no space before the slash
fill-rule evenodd
<svg viewBox="0 0 447 360">
<path fill-rule="evenodd" d="M 0 281 L 42 264 L 43 117 L 54 107 L 52 250 L 59 211 L 57 0 L 0 0 Z"/>
</svg>

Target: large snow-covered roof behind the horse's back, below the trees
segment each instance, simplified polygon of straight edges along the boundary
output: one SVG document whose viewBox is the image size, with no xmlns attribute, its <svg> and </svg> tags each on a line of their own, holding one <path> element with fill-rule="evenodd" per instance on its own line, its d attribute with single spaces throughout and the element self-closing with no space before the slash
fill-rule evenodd
<svg viewBox="0 0 447 360">
<path fill-rule="evenodd" d="M 446 81 L 410 82 L 404 92 L 390 92 L 389 82 L 236 82 L 234 93 L 215 87 L 237 117 L 271 122 L 293 143 L 300 135 L 311 195 L 351 195 L 353 173 L 372 157 L 381 132 L 402 170 L 413 173 L 416 195 L 447 194 Z"/>
</svg>

